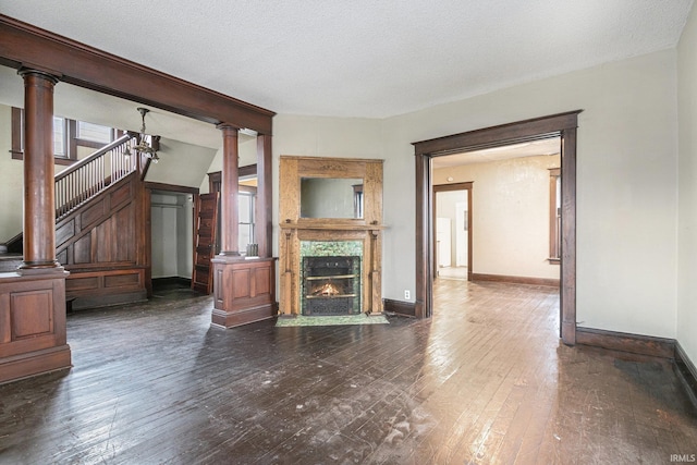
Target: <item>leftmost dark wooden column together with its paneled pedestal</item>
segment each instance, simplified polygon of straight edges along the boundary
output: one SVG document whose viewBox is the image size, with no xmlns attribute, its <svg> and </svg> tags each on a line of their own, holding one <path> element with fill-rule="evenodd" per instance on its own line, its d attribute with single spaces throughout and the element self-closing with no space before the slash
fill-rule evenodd
<svg viewBox="0 0 697 465">
<path fill-rule="evenodd" d="M 0 382 L 71 367 L 65 277 L 56 261 L 53 86 L 37 70 L 24 78 L 24 261 L 0 273 Z"/>
</svg>

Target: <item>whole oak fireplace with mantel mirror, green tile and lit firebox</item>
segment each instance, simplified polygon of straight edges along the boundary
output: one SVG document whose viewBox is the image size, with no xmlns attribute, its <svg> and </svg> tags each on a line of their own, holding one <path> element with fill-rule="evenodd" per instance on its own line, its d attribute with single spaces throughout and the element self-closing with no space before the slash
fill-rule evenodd
<svg viewBox="0 0 697 465">
<path fill-rule="evenodd" d="M 381 314 L 382 160 L 282 155 L 279 186 L 279 315 Z"/>
</svg>

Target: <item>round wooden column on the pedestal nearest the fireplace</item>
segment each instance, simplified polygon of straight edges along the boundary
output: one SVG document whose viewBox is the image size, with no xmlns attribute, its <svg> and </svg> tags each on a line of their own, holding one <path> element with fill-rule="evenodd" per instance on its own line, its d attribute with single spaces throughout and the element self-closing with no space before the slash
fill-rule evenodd
<svg viewBox="0 0 697 465">
<path fill-rule="evenodd" d="M 237 256 L 240 217 L 237 215 L 237 191 L 240 189 L 237 129 L 230 124 L 219 124 L 222 131 L 222 183 L 220 192 L 220 255 Z"/>
</svg>

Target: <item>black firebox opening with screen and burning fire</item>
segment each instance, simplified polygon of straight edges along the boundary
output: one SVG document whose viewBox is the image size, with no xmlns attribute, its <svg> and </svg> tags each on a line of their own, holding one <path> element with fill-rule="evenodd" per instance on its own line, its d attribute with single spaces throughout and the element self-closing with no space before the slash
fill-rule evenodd
<svg viewBox="0 0 697 465">
<path fill-rule="evenodd" d="M 360 313 L 360 257 L 303 257 L 303 315 Z"/>
</svg>

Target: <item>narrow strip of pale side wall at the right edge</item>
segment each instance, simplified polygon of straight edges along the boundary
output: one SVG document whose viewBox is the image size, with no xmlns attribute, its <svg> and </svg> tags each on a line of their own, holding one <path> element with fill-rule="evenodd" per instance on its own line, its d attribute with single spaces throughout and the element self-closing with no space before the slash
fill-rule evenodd
<svg viewBox="0 0 697 465">
<path fill-rule="evenodd" d="M 697 9 L 677 48 L 680 223 L 677 341 L 697 363 Z"/>
</svg>

